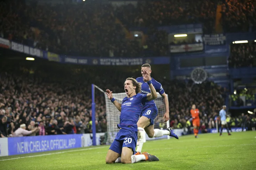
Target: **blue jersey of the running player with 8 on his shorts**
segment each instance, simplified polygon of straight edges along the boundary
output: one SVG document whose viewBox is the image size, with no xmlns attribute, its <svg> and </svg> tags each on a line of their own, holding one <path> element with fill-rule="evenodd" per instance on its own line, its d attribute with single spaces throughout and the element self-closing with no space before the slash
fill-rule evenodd
<svg viewBox="0 0 256 170">
<path fill-rule="evenodd" d="M 141 85 L 141 93 L 142 94 L 148 94 L 150 93 L 150 88 L 149 85 L 147 84 L 147 82 L 144 82 L 143 77 L 138 77 L 136 78 L 137 82 L 142 83 Z M 156 92 L 158 92 L 159 94 L 163 94 L 164 93 L 164 89 L 161 85 L 161 83 L 157 82 L 154 78 L 152 78 L 152 85 L 154 86 L 154 88 L 156 89 Z M 143 109 L 148 109 L 150 107 L 154 107 L 154 109 L 157 110 L 156 104 L 154 102 L 154 100 L 148 101 L 143 105 Z"/>
</svg>

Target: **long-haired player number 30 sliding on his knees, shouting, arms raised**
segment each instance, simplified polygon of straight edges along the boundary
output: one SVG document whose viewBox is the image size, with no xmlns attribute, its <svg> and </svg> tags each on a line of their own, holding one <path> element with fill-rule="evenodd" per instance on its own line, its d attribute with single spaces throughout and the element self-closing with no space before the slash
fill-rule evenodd
<svg viewBox="0 0 256 170">
<path fill-rule="evenodd" d="M 156 156 L 146 152 L 142 155 L 133 155 L 138 135 L 137 122 L 143 108 L 142 103 L 154 100 L 157 97 L 147 71 L 144 71 L 144 80 L 149 85 L 152 93 L 140 94 L 140 83 L 134 78 L 127 78 L 124 83 L 127 97 L 123 99 L 122 104 L 113 98 L 112 91 L 106 90 L 108 98 L 121 112 L 120 124 L 118 124 L 120 130 L 107 152 L 106 163 L 136 163 L 142 160 L 159 161 Z"/>
</svg>

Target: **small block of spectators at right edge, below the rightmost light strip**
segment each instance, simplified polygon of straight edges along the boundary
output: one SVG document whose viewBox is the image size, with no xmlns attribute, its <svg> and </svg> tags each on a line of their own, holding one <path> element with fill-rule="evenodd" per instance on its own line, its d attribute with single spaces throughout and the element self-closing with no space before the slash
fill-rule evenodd
<svg viewBox="0 0 256 170">
<path fill-rule="evenodd" d="M 256 43 L 232 44 L 228 65 L 233 68 L 256 66 Z"/>
</svg>

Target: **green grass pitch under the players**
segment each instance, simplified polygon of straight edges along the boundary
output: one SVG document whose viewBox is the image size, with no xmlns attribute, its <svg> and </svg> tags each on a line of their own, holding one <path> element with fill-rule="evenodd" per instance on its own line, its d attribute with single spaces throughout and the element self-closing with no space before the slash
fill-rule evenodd
<svg viewBox="0 0 256 170">
<path fill-rule="evenodd" d="M 252 170 L 256 169 L 256 131 L 182 136 L 144 143 L 158 162 L 106 165 L 109 146 L 0 157 L 1 170 Z"/>
</svg>

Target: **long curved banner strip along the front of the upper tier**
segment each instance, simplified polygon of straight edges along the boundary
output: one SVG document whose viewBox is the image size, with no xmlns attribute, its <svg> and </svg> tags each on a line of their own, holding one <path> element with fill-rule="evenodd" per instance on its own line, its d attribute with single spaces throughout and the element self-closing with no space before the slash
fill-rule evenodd
<svg viewBox="0 0 256 170">
<path fill-rule="evenodd" d="M 144 58 L 120 58 L 120 57 L 84 57 L 84 56 L 65 56 L 49 51 L 40 50 L 37 48 L 25 46 L 17 42 L 9 41 L 6 39 L 0 39 L 0 43 L 5 42 L 8 45 L 10 43 L 10 49 L 18 51 L 20 53 L 29 54 L 31 56 L 48 59 L 49 61 L 55 61 L 60 63 L 72 63 L 80 65 L 104 65 L 104 66 L 134 66 L 143 65 L 145 63 L 154 65 L 170 64 L 170 57 L 144 57 Z M 7 48 L 5 45 L 3 48 Z M 0 44 L 0 47 L 2 47 Z"/>
</svg>

